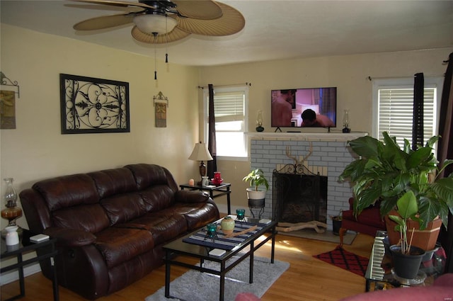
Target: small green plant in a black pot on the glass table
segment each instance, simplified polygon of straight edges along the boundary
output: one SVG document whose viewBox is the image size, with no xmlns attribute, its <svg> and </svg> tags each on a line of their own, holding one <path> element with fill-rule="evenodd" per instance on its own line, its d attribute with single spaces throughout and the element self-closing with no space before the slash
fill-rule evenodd
<svg viewBox="0 0 453 301">
<path fill-rule="evenodd" d="M 403 194 L 396 202 L 398 215 L 389 215 L 389 218 L 396 222 L 395 230 L 400 233 L 399 244 L 390 246 L 391 256 L 393 257 L 394 272 L 396 275 L 413 279 L 418 274 L 420 263 L 425 251 L 416 246 L 412 246 L 413 234 L 408 237 L 408 220 L 417 220 L 418 205 L 417 199 L 413 191 L 408 191 Z"/>
</svg>

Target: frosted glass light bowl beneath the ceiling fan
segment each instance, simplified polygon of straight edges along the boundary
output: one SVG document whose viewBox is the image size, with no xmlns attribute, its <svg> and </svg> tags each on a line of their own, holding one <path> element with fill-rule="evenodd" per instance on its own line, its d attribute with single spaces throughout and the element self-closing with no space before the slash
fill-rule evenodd
<svg viewBox="0 0 453 301">
<path fill-rule="evenodd" d="M 178 21 L 166 15 L 139 15 L 134 17 L 134 23 L 143 33 L 164 35 L 176 27 Z"/>
</svg>

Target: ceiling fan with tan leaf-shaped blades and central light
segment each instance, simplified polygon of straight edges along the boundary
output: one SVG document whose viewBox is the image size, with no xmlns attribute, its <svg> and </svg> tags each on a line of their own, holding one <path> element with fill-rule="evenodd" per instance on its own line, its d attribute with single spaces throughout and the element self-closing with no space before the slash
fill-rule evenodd
<svg viewBox="0 0 453 301">
<path fill-rule="evenodd" d="M 99 30 L 134 23 L 132 36 L 150 44 L 173 42 L 190 34 L 232 35 L 245 25 L 245 19 L 239 11 L 212 0 L 71 1 L 125 8 L 125 13 L 76 23 L 75 30 Z"/>
</svg>

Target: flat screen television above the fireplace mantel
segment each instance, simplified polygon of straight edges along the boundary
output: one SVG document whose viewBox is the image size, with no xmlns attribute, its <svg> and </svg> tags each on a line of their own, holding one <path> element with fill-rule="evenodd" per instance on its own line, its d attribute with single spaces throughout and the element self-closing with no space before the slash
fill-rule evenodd
<svg viewBox="0 0 453 301">
<path fill-rule="evenodd" d="M 271 90 L 272 127 L 336 127 L 337 88 Z"/>
</svg>

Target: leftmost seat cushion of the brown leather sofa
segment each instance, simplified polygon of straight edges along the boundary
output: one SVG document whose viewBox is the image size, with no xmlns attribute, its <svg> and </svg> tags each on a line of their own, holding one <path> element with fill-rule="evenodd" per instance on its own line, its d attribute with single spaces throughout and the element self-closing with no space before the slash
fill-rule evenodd
<svg viewBox="0 0 453 301">
<path fill-rule="evenodd" d="M 108 268 L 117 266 L 154 248 L 151 233 L 142 229 L 108 227 L 96 235 L 96 248 Z"/>
</svg>

